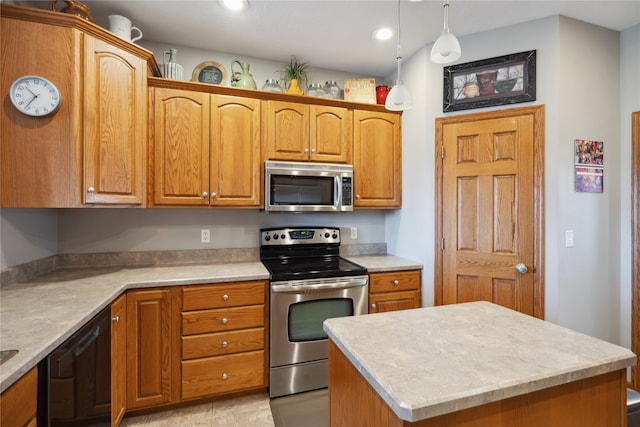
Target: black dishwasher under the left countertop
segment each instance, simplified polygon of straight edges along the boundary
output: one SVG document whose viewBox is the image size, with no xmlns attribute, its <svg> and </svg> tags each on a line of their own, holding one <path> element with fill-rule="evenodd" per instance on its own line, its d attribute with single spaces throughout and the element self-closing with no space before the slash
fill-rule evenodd
<svg viewBox="0 0 640 427">
<path fill-rule="evenodd" d="M 38 366 L 38 426 L 111 424 L 111 308 Z"/>
</svg>

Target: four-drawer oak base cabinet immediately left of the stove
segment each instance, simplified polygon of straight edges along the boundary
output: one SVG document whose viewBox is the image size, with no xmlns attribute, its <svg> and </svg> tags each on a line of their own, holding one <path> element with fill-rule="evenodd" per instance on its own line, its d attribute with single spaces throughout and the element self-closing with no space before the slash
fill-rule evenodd
<svg viewBox="0 0 640 427">
<path fill-rule="evenodd" d="M 265 281 L 183 288 L 183 400 L 267 386 L 266 289 Z"/>
</svg>

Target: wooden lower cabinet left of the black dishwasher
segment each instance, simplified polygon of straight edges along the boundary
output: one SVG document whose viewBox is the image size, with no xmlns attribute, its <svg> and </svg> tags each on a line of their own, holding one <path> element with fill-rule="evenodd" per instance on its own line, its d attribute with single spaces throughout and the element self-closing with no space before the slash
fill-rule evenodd
<svg viewBox="0 0 640 427">
<path fill-rule="evenodd" d="M 0 396 L 2 427 L 35 427 L 38 409 L 38 368 L 27 372 Z"/>
</svg>

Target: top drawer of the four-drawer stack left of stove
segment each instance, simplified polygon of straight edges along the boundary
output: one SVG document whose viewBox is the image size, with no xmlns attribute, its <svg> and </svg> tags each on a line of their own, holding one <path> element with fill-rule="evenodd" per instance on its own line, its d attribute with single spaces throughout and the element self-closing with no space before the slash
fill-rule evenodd
<svg viewBox="0 0 640 427">
<path fill-rule="evenodd" d="M 190 311 L 264 304 L 266 286 L 264 281 L 188 286 L 182 290 L 182 309 Z"/>
</svg>

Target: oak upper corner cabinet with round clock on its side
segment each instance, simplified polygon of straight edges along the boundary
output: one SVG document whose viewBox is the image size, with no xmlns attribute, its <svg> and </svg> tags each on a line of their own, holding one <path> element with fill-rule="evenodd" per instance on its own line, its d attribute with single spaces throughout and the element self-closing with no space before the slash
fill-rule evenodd
<svg viewBox="0 0 640 427">
<path fill-rule="evenodd" d="M 2 93 L 36 75 L 61 94 L 60 108 L 43 117 L 5 98 L 1 206 L 143 205 L 153 54 L 74 15 L 5 3 L 0 14 Z"/>
</svg>

